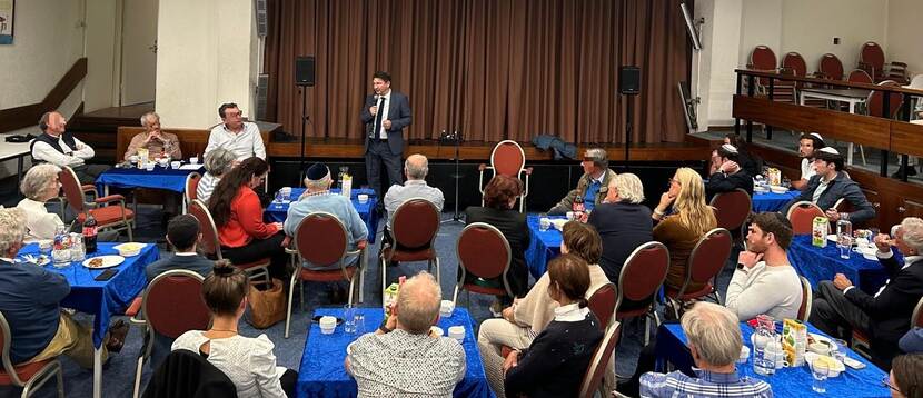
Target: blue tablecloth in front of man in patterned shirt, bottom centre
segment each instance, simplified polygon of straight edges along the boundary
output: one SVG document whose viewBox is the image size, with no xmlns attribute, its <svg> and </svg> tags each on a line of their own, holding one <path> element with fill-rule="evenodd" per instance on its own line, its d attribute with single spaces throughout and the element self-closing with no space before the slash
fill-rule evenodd
<svg viewBox="0 0 923 398">
<path fill-rule="evenodd" d="M 361 308 L 365 314 L 365 331 L 371 332 L 385 319 L 384 310 L 377 308 Z M 330 315 L 343 318 L 343 308 L 318 308 L 315 316 Z M 477 340 L 472 326 L 472 318 L 464 308 L 456 308 L 451 317 L 439 319 L 439 327 L 448 332 L 450 326 L 465 327 L 465 348 L 467 369 L 465 378 L 455 386 L 455 397 L 494 397 L 487 376 L 484 374 L 484 362 L 477 350 Z M 333 335 L 322 335 L 317 322 L 311 324 L 308 339 L 305 342 L 305 352 L 301 355 L 301 366 L 298 370 L 297 396 L 306 397 L 356 397 L 358 387 L 356 380 L 346 372 L 343 362 L 346 359 L 346 346 L 356 340 L 360 334 L 346 335 L 343 326 L 337 326 Z"/>
</svg>

